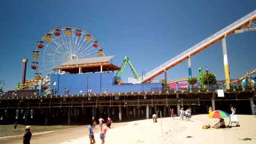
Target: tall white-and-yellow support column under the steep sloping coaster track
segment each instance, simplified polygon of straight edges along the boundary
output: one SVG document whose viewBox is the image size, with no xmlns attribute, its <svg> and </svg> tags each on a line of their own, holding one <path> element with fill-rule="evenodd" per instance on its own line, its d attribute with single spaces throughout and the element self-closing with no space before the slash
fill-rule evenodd
<svg viewBox="0 0 256 144">
<path fill-rule="evenodd" d="M 228 63 L 228 53 L 226 52 L 226 38 L 222 39 L 222 52 L 226 79 L 226 89 L 230 89 L 230 79 L 229 79 L 229 63 Z"/>
</svg>

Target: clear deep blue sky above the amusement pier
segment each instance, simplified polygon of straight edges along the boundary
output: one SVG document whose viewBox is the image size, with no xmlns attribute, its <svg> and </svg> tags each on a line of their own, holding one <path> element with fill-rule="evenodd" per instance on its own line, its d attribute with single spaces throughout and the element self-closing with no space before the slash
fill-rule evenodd
<svg viewBox="0 0 256 144">
<path fill-rule="evenodd" d="M 256 1 L 0 1 L 1 70 L 4 91 L 21 81 L 22 59 L 28 58 L 27 79 L 37 40 L 53 28 L 76 26 L 92 33 L 106 56 L 120 66 L 128 56 L 141 76 L 203 39 L 251 13 Z M 255 68 L 256 32 L 226 38 L 230 79 Z M 191 57 L 192 75 L 207 66 L 224 80 L 221 42 Z M 123 81 L 133 77 L 129 67 Z M 167 81 L 188 77 L 188 62 L 168 70 Z M 164 78 L 164 74 L 158 79 Z M 1 83 L 2 87 L 3 84 Z"/>
</svg>

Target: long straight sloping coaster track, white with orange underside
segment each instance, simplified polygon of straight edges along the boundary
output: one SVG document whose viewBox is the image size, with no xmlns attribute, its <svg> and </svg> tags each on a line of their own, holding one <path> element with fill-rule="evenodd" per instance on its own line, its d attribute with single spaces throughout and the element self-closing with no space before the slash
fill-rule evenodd
<svg viewBox="0 0 256 144">
<path fill-rule="evenodd" d="M 196 53 L 199 53 L 202 50 L 205 50 L 207 47 L 210 47 L 214 43 L 217 43 L 219 40 L 223 39 L 224 37 L 234 33 L 237 29 L 243 28 L 246 25 L 249 25 L 250 23 L 254 22 L 255 20 L 256 20 L 256 10 L 242 17 L 241 19 L 235 21 L 231 25 L 223 28 L 219 32 L 211 35 L 211 37 L 208 37 L 205 40 L 201 41 L 200 43 L 190 47 L 188 50 L 170 59 L 164 64 L 161 64 L 155 69 L 149 71 L 147 74 L 145 74 L 143 82 L 148 82 L 152 80 L 154 77 L 164 73 L 166 70 L 173 68 L 174 66 L 185 61 L 189 57 L 196 55 Z"/>
</svg>

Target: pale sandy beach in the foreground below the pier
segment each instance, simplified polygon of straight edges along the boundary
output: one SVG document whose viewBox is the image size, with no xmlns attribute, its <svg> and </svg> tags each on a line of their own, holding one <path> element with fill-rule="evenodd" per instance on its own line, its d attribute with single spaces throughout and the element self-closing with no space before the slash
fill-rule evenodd
<svg viewBox="0 0 256 144">
<path fill-rule="evenodd" d="M 238 115 L 238 120 L 241 127 L 226 129 L 202 129 L 203 125 L 214 125 L 218 122 L 218 119 L 208 118 L 207 115 L 195 115 L 191 121 L 179 121 L 175 117 L 175 120 L 159 118 L 158 123 L 153 123 L 152 119 L 113 123 L 113 128 L 107 131 L 105 143 L 256 143 L 256 117 Z M 228 125 L 229 119 L 226 118 L 225 122 Z M 96 143 L 101 143 L 98 125 L 94 133 Z M 31 143 L 90 143 L 88 127 L 33 136 Z"/>
</svg>

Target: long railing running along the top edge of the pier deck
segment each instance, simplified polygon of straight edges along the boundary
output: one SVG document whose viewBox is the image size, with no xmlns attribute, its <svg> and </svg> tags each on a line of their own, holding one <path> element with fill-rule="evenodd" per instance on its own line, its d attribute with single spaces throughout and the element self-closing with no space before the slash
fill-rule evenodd
<svg viewBox="0 0 256 144">
<path fill-rule="evenodd" d="M 30 90 L 20 90 L 20 91 L 8 91 L 1 92 L 1 97 L 38 97 L 38 96 L 67 96 L 67 95 L 124 95 L 124 94 L 152 94 L 154 92 L 168 92 L 168 93 L 179 93 L 179 92 L 216 92 L 217 89 L 223 89 L 224 92 L 242 92 L 242 91 L 254 91 L 256 89 L 255 82 L 252 83 L 232 83 L 230 84 L 230 89 L 226 89 L 225 84 L 211 84 L 211 85 L 198 85 L 191 86 L 188 85 L 186 87 L 179 87 L 178 89 L 169 86 L 161 86 L 161 87 L 147 87 L 147 86 L 139 86 L 139 87 L 126 87 L 126 88 L 101 88 L 101 89 L 70 89 L 70 91 L 63 91 L 63 89 L 59 89 L 59 91 L 54 92 L 53 90 L 46 90 L 50 92 L 41 91 L 39 93 L 38 89 L 30 89 Z M 40 94 L 40 95 L 39 95 Z"/>
</svg>

